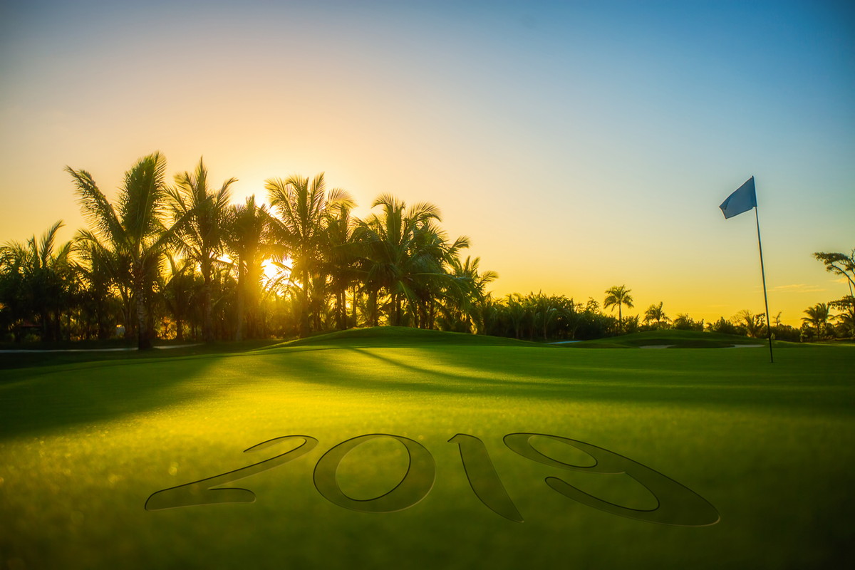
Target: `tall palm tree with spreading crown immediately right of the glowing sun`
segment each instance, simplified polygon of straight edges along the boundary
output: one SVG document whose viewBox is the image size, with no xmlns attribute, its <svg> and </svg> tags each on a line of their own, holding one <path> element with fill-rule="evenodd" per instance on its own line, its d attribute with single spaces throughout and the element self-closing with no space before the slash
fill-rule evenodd
<svg viewBox="0 0 855 570">
<path fill-rule="evenodd" d="M 280 243 L 287 245 L 293 261 L 293 273 L 301 287 L 300 335 L 310 331 L 310 276 L 316 272 L 328 213 L 341 205 L 352 208 L 351 195 L 339 188 L 327 191 L 324 175 L 311 181 L 294 175 L 287 179 L 267 179 L 270 207 L 278 214 L 273 218 Z"/>
</svg>

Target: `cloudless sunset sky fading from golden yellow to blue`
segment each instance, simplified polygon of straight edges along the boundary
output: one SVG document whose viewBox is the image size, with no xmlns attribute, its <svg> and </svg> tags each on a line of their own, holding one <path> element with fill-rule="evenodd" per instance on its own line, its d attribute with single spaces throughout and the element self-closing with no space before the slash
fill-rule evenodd
<svg viewBox="0 0 855 570">
<path fill-rule="evenodd" d="M 112 197 L 161 150 L 234 201 L 325 171 L 367 207 L 435 203 L 497 295 L 643 314 L 763 312 L 848 294 L 814 251 L 855 248 L 848 2 L 0 4 L 0 243 L 84 226 L 63 167 Z"/>
</svg>

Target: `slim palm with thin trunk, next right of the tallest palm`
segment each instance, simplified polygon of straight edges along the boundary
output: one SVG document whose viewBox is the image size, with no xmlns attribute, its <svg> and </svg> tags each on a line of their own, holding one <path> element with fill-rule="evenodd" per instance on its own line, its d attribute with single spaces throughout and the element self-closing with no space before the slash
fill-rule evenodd
<svg viewBox="0 0 855 570">
<path fill-rule="evenodd" d="M 202 274 L 202 338 L 206 343 L 214 340 L 211 272 L 223 252 L 229 186 L 236 181 L 227 179 L 219 190 L 211 191 L 208 188 L 208 170 L 200 158 L 195 172 L 176 174 L 175 187 L 167 191 L 174 219 L 187 218 L 186 224 L 177 232 L 177 249 L 186 259 L 198 263 Z"/>
</svg>

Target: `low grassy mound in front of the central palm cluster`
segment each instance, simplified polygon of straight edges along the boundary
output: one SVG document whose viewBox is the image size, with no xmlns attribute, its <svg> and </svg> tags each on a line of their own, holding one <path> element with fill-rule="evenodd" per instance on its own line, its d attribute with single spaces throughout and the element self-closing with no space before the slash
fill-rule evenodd
<svg viewBox="0 0 855 570">
<path fill-rule="evenodd" d="M 327 332 L 306 338 L 277 344 L 279 347 L 292 346 L 347 346 L 347 347 L 394 347 L 394 346 L 443 346 L 443 345 L 482 345 L 482 346 L 544 346 L 516 338 L 486 337 L 463 332 L 430 331 L 409 326 L 371 326 L 352 328 L 346 331 Z"/>
</svg>

